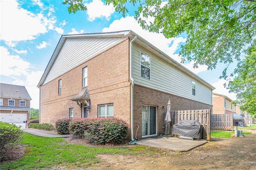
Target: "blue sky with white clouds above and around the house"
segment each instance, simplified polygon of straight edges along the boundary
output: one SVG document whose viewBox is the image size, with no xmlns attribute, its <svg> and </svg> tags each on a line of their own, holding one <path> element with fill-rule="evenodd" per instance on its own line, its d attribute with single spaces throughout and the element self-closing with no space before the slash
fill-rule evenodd
<svg viewBox="0 0 256 170">
<path fill-rule="evenodd" d="M 37 85 L 61 35 L 132 30 L 180 63 L 178 51 L 186 42 L 186 35 L 166 39 L 162 34 L 142 30 L 133 18 L 133 6 L 129 5 L 129 14 L 122 17 L 101 0 L 84 1 L 88 10 L 76 14 L 69 14 L 68 6 L 62 2 L 0 1 L 0 82 L 25 86 L 32 98 L 32 108 L 39 108 Z M 193 69 L 193 61 L 183 65 L 216 87 L 214 93 L 235 99 L 235 94 L 223 87 L 226 81 L 219 79 L 224 64 L 218 64 L 212 71 L 207 71 L 205 65 Z M 234 66 L 230 66 L 230 71 Z"/>
</svg>

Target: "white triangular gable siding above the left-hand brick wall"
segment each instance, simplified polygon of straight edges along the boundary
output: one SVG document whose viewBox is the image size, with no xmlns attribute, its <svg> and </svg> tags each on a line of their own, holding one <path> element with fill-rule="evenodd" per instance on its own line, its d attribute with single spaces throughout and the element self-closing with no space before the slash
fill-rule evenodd
<svg viewBox="0 0 256 170">
<path fill-rule="evenodd" d="M 70 38 L 58 53 L 44 84 L 127 38 Z"/>
</svg>

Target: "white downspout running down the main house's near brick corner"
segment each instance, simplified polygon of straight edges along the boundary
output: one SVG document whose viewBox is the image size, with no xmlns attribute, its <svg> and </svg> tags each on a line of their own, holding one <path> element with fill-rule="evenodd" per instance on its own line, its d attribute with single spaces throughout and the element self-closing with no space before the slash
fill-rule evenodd
<svg viewBox="0 0 256 170">
<path fill-rule="evenodd" d="M 130 41 L 130 81 L 131 81 L 131 99 L 130 99 L 130 109 L 131 109 L 131 140 L 134 141 L 133 138 L 133 87 L 134 87 L 134 79 L 132 78 L 132 42 L 136 40 L 137 36 L 134 36 L 134 38 Z"/>
</svg>

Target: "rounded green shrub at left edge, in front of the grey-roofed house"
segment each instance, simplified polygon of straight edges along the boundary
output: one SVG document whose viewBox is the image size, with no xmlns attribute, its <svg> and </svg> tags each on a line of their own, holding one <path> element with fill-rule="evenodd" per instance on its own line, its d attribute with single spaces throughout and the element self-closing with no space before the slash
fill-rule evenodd
<svg viewBox="0 0 256 170">
<path fill-rule="evenodd" d="M 0 122 L 0 158 L 22 140 L 22 130 L 14 124 Z"/>
</svg>

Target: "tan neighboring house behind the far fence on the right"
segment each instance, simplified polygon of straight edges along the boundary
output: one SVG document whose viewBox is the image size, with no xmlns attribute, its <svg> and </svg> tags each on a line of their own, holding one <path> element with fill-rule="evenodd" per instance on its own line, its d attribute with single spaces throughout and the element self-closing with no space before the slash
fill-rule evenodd
<svg viewBox="0 0 256 170">
<path fill-rule="evenodd" d="M 213 114 L 236 113 L 236 106 L 231 102 L 228 96 L 212 93 Z"/>
</svg>

